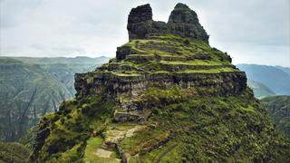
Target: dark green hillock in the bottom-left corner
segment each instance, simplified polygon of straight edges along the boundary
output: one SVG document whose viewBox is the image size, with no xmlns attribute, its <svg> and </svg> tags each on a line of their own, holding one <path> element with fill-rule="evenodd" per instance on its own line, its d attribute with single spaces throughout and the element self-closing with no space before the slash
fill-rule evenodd
<svg viewBox="0 0 290 163">
<path fill-rule="evenodd" d="M 22 144 L 0 141 L 0 162 L 26 162 L 29 155 L 30 150 Z"/>
</svg>

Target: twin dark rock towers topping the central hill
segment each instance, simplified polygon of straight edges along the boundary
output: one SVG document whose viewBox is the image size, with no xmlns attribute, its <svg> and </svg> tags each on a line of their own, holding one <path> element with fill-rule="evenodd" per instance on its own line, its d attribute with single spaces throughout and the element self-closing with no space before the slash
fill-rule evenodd
<svg viewBox="0 0 290 163">
<path fill-rule="evenodd" d="M 198 15 L 188 5 L 178 4 L 169 22 L 153 21 L 149 4 L 131 9 L 127 29 L 129 39 L 144 39 L 148 34 L 177 34 L 208 43 L 208 34 L 198 22 Z"/>
</svg>

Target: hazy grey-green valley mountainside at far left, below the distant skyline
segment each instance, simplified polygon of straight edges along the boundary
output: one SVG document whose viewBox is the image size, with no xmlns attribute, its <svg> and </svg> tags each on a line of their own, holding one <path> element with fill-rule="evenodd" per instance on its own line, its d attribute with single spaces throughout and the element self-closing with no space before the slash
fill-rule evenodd
<svg viewBox="0 0 290 163">
<path fill-rule="evenodd" d="M 10 60 L 10 59 L 9 59 Z M 65 85 L 38 65 L 0 60 L 1 139 L 14 140 L 38 122 L 38 117 L 57 109 L 71 98 Z M 43 102 L 46 101 L 46 102 Z"/>
</svg>

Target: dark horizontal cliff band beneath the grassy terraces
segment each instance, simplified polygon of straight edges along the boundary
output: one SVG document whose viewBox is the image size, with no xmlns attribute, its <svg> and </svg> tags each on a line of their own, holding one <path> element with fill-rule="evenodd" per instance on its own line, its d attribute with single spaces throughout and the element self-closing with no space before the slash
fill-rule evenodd
<svg viewBox="0 0 290 163">
<path fill-rule="evenodd" d="M 88 76 L 93 78 L 88 83 Z M 143 74 L 139 76 L 118 76 L 110 72 L 89 72 L 75 74 L 75 89 L 79 96 L 98 95 L 105 89 L 108 98 L 118 101 L 121 94 L 138 94 L 150 87 L 150 83 L 159 83 L 165 88 L 179 85 L 184 89 L 205 87 L 218 90 L 221 95 L 238 94 L 247 89 L 245 72 L 170 72 Z M 135 91 L 135 92 L 134 92 Z"/>
</svg>

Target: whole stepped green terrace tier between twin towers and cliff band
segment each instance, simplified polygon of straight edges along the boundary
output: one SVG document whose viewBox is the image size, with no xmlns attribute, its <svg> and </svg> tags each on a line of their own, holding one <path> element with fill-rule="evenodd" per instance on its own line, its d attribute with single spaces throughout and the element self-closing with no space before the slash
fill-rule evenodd
<svg viewBox="0 0 290 163">
<path fill-rule="evenodd" d="M 236 72 L 227 53 L 211 48 L 208 43 L 176 35 L 150 35 L 145 40 L 131 40 L 121 47 L 134 54 L 125 60 L 114 60 L 96 72 L 111 72 L 117 76 L 139 76 L 159 72 Z M 199 67 L 198 67 L 199 66 Z"/>
</svg>

